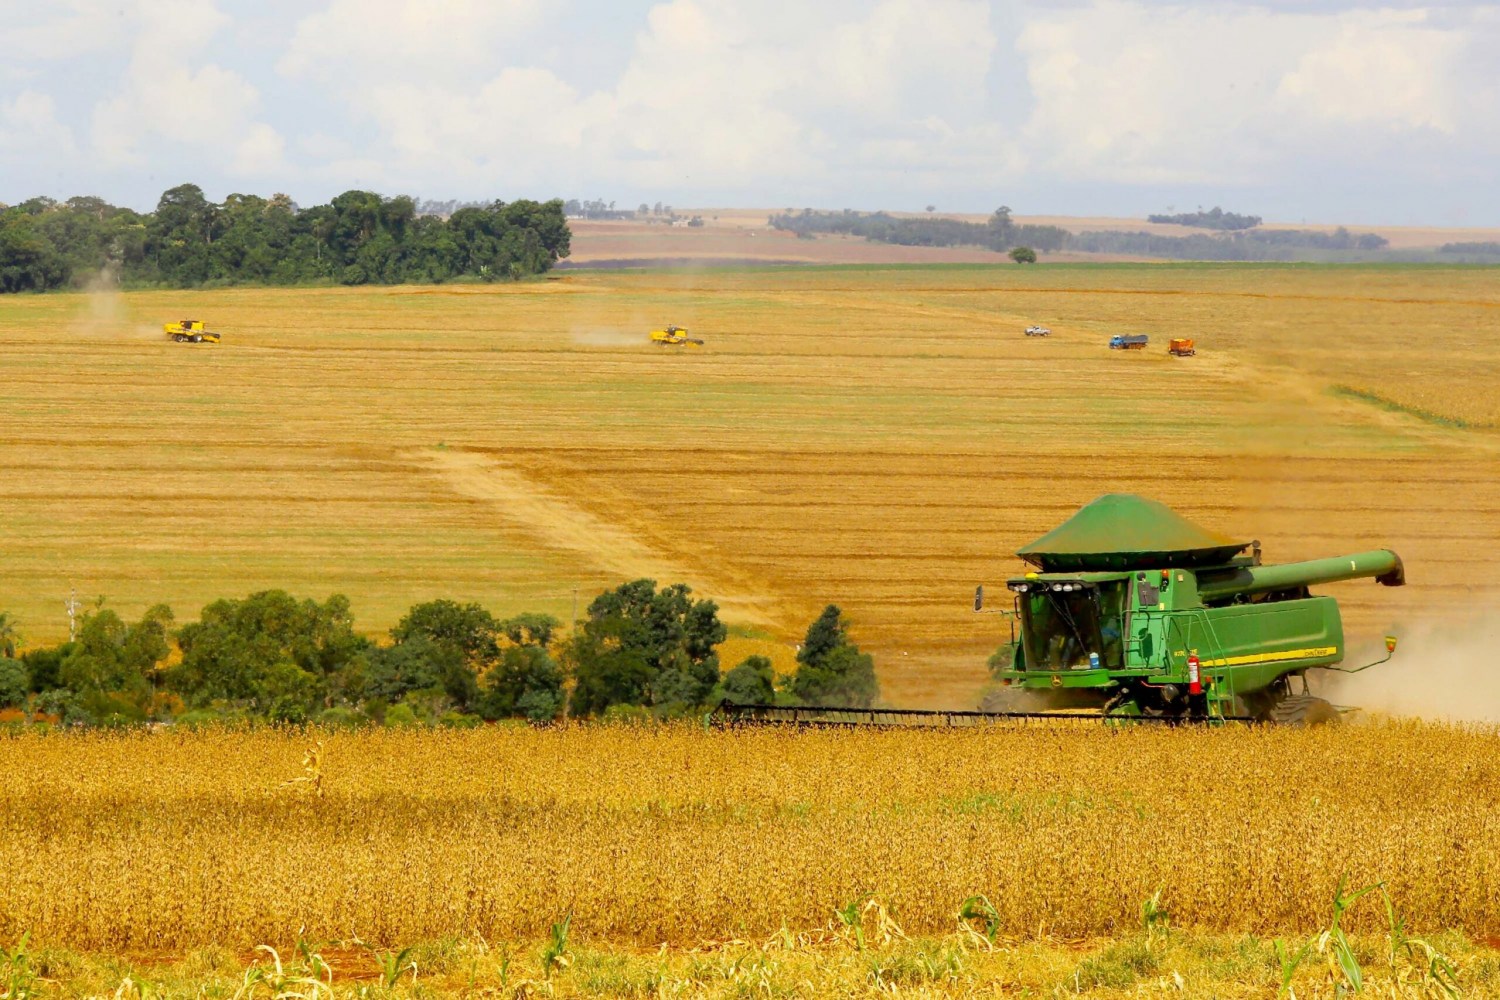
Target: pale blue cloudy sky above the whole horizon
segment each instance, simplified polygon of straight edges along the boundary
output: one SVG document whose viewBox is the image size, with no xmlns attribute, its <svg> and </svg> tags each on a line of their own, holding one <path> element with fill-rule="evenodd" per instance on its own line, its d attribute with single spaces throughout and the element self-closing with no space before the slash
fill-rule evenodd
<svg viewBox="0 0 1500 1000">
<path fill-rule="evenodd" d="M 0 202 L 1500 225 L 1500 3 L 0 0 Z"/>
</svg>

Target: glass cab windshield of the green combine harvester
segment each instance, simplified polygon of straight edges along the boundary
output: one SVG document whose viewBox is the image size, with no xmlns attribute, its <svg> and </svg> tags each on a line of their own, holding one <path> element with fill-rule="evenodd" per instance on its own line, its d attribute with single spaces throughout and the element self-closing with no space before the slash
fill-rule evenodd
<svg viewBox="0 0 1500 1000">
<path fill-rule="evenodd" d="M 1120 612 L 1124 588 L 1119 583 L 1042 583 L 1023 594 L 1022 634 L 1026 666 L 1032 670 L 1071 670 L 1089 667 L 1089 654 L 1100 654 L 1100 666 L 1122 666 L 1124 634 Z"/>
</svg>

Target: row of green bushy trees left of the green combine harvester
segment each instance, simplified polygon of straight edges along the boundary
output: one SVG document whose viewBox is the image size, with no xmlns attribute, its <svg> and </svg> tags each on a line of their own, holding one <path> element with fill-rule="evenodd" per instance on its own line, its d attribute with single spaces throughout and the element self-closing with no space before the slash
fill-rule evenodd
<svg viewBox="0 0 1500 1000">
<path fill-rule="evenodd" d="M 868 654 L 830 604 L 777 676 L 766 657 L 722 670 L 728 637 L 711 600 L 633 580 L 600 594 L 564 634 L 550 615 L 496 618 L 480 604 L 412 606 L 376 643 L 348 598 L 285 591 L 225 598 L 177 625 L 158 604 L 129 622 L 100 600 L 76 634 L 20 649 L 0 613 L 0 709 L 15 720 L 123 726 L 266 720 L 454 724 L 525 718 L 664 718 L 741 705 L 874 703 Z"/>
</svg>

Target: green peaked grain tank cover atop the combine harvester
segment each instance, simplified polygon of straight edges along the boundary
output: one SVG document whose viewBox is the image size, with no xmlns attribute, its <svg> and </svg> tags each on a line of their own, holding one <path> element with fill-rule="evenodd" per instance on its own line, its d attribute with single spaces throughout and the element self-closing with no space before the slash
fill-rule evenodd
<svg viewBox="0 0 1500 1000">
<path fill-rule="evenodd" d="M 1106 493 L 1016 553 L 1042 573 L 1222 565 L 1248 547 L 1166 504 Z"/>
</svg>

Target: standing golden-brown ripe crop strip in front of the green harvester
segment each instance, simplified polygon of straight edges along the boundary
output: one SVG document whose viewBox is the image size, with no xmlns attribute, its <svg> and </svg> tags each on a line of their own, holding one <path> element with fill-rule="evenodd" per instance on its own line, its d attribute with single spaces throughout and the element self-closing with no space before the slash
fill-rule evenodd
<svg viewBox="0 0 1500 1000">
<path fill-rule="evenodd" d="M 0 942 L 394 948 L 572 912 L 694 946 L 870 901 L 945 934 L 976 895 L 999 934 L 1082 939 L 1158 892 L 1182 930 L 1290 934 L 1346 876 L 1413 931 L 1500 933 L 1494 729 L 28 733 L 0 759 Z"/>
</svg>

